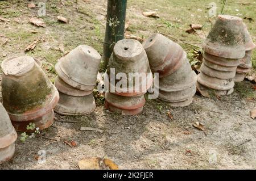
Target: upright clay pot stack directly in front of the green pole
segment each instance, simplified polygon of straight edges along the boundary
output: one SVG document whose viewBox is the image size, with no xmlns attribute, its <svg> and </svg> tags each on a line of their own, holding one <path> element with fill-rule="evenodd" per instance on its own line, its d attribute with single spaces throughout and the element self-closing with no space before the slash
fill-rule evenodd
<svg viewBox="0 0 256 181">
<path fill-rule="evenodd" d="M 122 77 L 119 77 L 121 73 Z M 129 73 L 135 73 L 135 76 L 131 77 Z M 136 73 L 145 77 L 139 78 Z M 125 81 L 119 86 L 121 79 Z M 151 87 L 153 77 L 147 54 L 139 41 L 125 39 L 115 44 L 104 82 L 106 109 L 122 115 L 135 115 L 143 110 L 144 94 Z"/>
</svg>

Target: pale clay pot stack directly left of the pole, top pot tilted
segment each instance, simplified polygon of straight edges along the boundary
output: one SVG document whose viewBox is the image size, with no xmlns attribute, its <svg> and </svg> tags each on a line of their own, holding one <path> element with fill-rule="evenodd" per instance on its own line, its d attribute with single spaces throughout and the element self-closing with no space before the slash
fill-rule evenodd
<svg viewBox="0 0 256 181">
<path fill-rule="evenodd" d="M 96 108 L 93 89 L 101 56 L 97 50 L 80 45 L 62 57 L 55 69 L 55 86 L 60 101 L 54 111 L 61 115 L 86 115 Z"/>
</svg>

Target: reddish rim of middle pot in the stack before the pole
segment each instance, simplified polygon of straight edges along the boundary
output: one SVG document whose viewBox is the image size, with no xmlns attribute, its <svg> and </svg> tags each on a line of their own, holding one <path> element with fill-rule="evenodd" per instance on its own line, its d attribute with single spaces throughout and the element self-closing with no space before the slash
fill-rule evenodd
<svg viewBox="0 0 256 181">
<path fill-rule="evenodd" d="M 112 99 L 113 97 L 116 96 L 116 98 L 118 99 L 118 97 L 120 99 L 127 99 L 127 100 L 120 100 L 120 102 L 114 102 Z M 132 106 L 126 106 L 125 102 L 133 102 L 133 99 L 141 99 L 139 100 L 139 102 L 137 104 L 133 104 Z M 109 93 L 109 92 L 106 92 L 105 93 L 105 100 L 112 106 L 114 107 L 117 107 L 121 110 L 136 110 L 138 108 L 141 108 L 145 105 L 146 103 L 146 99 L 144 98 L 144 96 L 142 95 L 141 98 L 139 97 L 135 97 L 135 98 L 127 98 L 127 97 L 123 97 L 123 96 L 119 96 L 119 95 L 115 95 L 115 94 L 112 94 L 112 93 Z"/>
</svg>

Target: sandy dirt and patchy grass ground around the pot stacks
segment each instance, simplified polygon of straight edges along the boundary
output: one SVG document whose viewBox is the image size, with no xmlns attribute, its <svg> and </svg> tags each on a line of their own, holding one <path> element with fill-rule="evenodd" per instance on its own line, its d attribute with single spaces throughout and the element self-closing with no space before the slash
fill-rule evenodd
<svg viewBox="0 0 256 181">
<path fill-rule="evenodd" d="M 5 18 L 0 20 L 0 63 L 24 54 L 24 49 L 37 40 L 35 49 L 27 54 L 43 62 L 53 82 L 57 60 L 77 45 L 90 45 L 102 54 L 106 1 L 34 2 L 46 3 L 46 16 L 41 17 L 46 22 L 44 28 L 29 23 L 39 7 L 29 9 L 28 1 L 0 1 L 0 17 Z M 219 14 L 222 1 L 129 0 L 126 33 L 147 37 L 156 32 L 156 27 L 166 26 L 159 30 L 175 37 L 189 54 L 195 48 L 189 44 L 200 47 L 202 36 L 210 29 L 210 2 L 216 3 Z M 245 18 L 254 42 L 255 9 L 253 0 L 228 1 L 224 9 L 225 14 Z M 142 15 L 149 10 L 157 11 L 160 18 Z M 57 22 L 58 15 L 68 18 L 69 23 Z M 191 23 L 203 24 L 203 31 L 198 35 L 185 33 Z M 255 71 L 256 51 L 253 66 Z M 191 105 L 181 108 L 148 99 L 143 112 L 135 116 L 105 110 L 104 100 L 96 96 L 97 108 L 90 115 L 56 114 L 52 127 L 24 143 L 19 133 L 15 157 L 0 169 L 79 169 L 77 163 L 86 157 L 110 158 L 120 169 L 256 169 L 256 122 L 249 112 L 256 107 L 253 87 L 255 84 L 249 81 L 236 83 L 232 95 L 195 95 Z M 192 126 L 196 121 L 204 125 L 205 132 Z M 81 126 L 104 132 L 80 131 Z M 77 146 L 71 148 L 64 141 L 76 141 Z M 46 163 L 35 159 L 39 150 L 46 150 Z"/>
</svg>

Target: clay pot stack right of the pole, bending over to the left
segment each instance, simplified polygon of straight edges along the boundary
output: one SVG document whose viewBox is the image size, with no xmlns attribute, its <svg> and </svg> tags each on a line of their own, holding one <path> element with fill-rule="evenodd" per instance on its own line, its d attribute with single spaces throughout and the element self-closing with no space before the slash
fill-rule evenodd
<svg viewBox="0 0 256 181">
<path fill-rule="evenodd" d="M 159 73 L 158 98 L 171 106 L 182 107 L 192 103 L 196 93 L 196 73 L 192 71 L 187 54 L 179 44 L 156 33 L 143 43 L 152 72 Z"/>
</svg>

